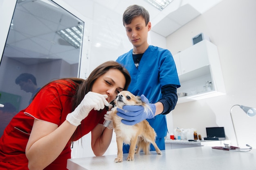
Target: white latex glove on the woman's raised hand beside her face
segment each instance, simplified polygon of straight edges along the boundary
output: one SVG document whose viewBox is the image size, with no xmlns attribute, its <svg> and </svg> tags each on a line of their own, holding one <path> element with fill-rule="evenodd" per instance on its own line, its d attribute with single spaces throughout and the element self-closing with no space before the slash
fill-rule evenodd
<svg viewBox="0 0 256 170">
<path fill-rule="evenodd" d="M 108 95 L 106 94 L 102 95 L 88 92 L 76 109 L 67 115 L 66 120 L 74 126 L 78 126 L 81 124 L 81 121 L 88 116 L 92 109 L 100 110 L 104 109 L 105 105 L 108 106 L 109 104 L 106 100 L 107 97 Z"/>
</svg>

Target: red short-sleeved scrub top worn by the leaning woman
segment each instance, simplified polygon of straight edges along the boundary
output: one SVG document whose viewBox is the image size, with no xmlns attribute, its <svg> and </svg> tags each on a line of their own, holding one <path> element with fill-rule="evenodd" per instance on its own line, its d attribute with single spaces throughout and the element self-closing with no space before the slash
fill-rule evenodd
<svg viewBox="0 0 256 170">
<path fill-rule="evenodd" d="M 25 148 L 31 133 L 34 119 L 43 120 L 60 126 L 68 113 L 72 112 L 72 96 L 77 85 L 66 80 L 49 83 L 40 90 L 31 104 L 13 117 L 0 138 L 0 167 L 1 170 L 26 170 L 28 160 Z M 90 111 L 76 129 L 75 140 L 86 135 L 97 124 L 103 124 L 105 110 Z M 80 127 L 81 126 L 81 127 Z M 64 170 L 67 159 L 71 158 L 71 142 L 68 142 L 61 154 L 45 168 L 45 170 Z"/>
</svg>

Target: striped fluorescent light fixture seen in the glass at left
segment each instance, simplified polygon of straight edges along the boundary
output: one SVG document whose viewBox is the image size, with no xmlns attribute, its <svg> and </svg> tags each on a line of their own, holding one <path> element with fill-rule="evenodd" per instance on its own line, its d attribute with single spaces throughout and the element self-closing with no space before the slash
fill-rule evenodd
<svg viewBox="0 0 256 170">
<path fill-rule="evenodd" d="M 80 48 L 83 36 L 83 26 L 73 26 L 64 30 L 56 31 L 63 39 L 75 48 Z"/>
</svg>

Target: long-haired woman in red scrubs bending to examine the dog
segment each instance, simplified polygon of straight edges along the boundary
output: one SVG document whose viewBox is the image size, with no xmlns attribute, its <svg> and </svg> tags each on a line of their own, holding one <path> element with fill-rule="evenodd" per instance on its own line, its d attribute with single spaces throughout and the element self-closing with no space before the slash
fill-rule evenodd
<svg viewBox="0 0 256 170">
<path fill-rule="evenodd" d="M 129 84 L 128 71 L 108 61 L 86 80 L 64 78 L 45 85 L 4 130 L 1 170 L 64 170 L 71 157 L 71 142 L 89 132 L 94 154 L 103 155 L 113 133 L 112 127 L 103 126 L 104 108 Z"/>
</svg>

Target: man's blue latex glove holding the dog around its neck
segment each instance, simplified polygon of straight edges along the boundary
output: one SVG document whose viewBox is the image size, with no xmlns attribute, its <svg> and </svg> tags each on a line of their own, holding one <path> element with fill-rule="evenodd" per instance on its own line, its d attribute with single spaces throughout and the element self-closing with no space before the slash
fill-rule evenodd
<svg viewBox="0 0 256 170">
<path fill-rule="evenodd" d="M 125 105 L 122 109 L 117 107 L 117 116 L 123 118 L 123 120 L 121 120 L 122 123 L 134 125 L 142 120 L 154 118 L 156 111 L 155 104 L 149 103 L 148 99 L 143 94 L 140 96 L 140 98 L 143 102 L 146 102 L 151 111 L 149 109 L 147 113 L 142 106 Z"/>
</svg>

